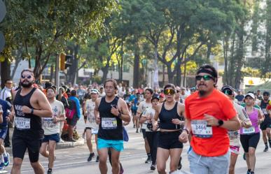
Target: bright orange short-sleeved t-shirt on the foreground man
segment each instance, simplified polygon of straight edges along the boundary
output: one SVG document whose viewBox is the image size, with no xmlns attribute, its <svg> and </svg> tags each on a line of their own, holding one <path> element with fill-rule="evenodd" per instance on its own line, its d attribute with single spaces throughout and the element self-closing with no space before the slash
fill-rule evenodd
<svg viewBox="0 0 271 174">
<path fill-rule="evenodd" d="M 204 114 L 222 120 L 232 119 L 237 115 L 230 99 L 218 89 L 214 89 L 209 96 L 204 98 L 200 98 L 198 92 L 195 92 L 186 98 L 185 107 L 185 115 L 191 121 L 203 119 Z M 212 134 L 210 138 L 192 136 L 190 145 L 197 154 L 204 157 L 218 157 L 228 152 L 230 146 L 228 130 L 212 126 Z"/>
</svg>

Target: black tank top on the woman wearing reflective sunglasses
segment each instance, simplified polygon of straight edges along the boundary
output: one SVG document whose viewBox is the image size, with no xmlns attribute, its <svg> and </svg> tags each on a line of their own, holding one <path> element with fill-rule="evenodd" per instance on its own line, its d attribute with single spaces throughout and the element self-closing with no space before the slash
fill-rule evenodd
<svg viewBox="0 0 271 174">
<path fill-rule="evenodd" d="M 181 117 L 178 114 L 177 106 L 178 106 L 178 102 L 176 101 L 174 108 L 172 108 L 172 110 L 166 110 L 165 102 L 162 103 L 162 108 L 159 113 L 160 129 L 168 129 L 168 130 L 181 129 L 180 125 L 176 125 L 172 123 L 172 119 L 177 118 L 181 120 Z"/>
</svg>

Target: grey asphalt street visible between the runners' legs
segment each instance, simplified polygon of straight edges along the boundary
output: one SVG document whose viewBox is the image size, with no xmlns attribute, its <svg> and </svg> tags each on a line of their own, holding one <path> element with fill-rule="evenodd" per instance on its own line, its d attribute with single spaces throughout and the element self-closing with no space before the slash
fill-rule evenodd
<svg viewBox="0 0 271 174">
<path fill-rule="evenodd" d="M 127 126 L 130 140 L 125 143 L 125 150 L 120 155 L 120 161 L 124 167 L 124 173 L 128 174 L 144 174 L 144 173 L 158 173 L 155 171 L 150 171 L 151 164 L 145 164 L 146 152 L 144 150 L 144 140 L 141 133 L 135 133 L 132 128 L 132 123 Z M 81 134 L 83 132 L 83 119 L 78 122 L 78 132 Z M 93 138 L 94 139 L 94 138 Z M 260 143 L 256 150 L 256 170 L 257 174 L 268 174 L 271 173 L 271 150 L 270 152 L 263 152 L 263 140 L 260 139 Z M 241 148 L 242 149 L 242 148 Z M 187 159 L 188 143 L 184 145 L 182 153 L 182 171 L 189 171 L 188 159 Z M 56 150 L 56 160 L 55 166 L 53 168 L 54 174 L 98 174 L 99 166 L 95 160 L 88 162 L 88 147 L 87 145 L 78 146 L 69 149 Z M 95 148 L 95 158 L 96 159 L 96 148 Z M 246 173 L 246 161 L 242 159 L 243 150 L 241 151 L 236 164 L 235 173 Z M 12 157 L 11 157 L 12 161 Z M 41 157 L 41 164 L 44 168 L 48 169 L 48 161 L 46 158 Z M 11 166 L 8 166 L 7 171 L 11 171 Z M 108 162 L 109 171 L 111 173 L 111 166 Z M 169 161 L 167 161 L 167 172 L 169 172 Z M 25 159 L 22 165 L 22 173 L 32 174 L 34 171 L 29 164 L 28 154 L 25 155 Z"/>
</svg>

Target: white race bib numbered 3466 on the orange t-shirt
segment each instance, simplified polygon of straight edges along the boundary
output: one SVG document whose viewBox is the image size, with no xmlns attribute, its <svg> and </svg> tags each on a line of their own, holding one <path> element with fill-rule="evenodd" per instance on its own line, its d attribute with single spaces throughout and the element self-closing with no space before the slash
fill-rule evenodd
<svg viewBox="0 0 271 174">
<path fill-rule="evenodd" d="M 207 121 L 202 119 L 191 121 L 192 131 L 194 136 L 200 138 L 211 138 L 213 136 L 213 129 L 207 126 Z"/>
</svg>

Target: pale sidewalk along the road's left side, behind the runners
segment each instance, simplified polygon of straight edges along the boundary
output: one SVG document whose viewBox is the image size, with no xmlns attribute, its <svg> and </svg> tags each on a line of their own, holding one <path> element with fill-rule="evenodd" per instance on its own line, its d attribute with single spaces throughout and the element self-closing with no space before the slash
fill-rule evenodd
<svg viewBox="0 0 271 174">
<path fill-rule="evenodd" d="M 10 140 L 12 140 L 13 128 L 9 129 L 9 136 L 10 136 Z M 56 150 L 66 149 L 66 148 L 72 148 L 72 147 L 81 146 L 81 145 L 85 145 L 85 139 L 83 138 L 79 138 L 76 142 L 64 141 L 64 143 L 57 143 L 57 146 L 55 147 L 55 149 Z M 5 149 L 6 149 L 6 152 L 8 152 L 9 154 L 12 154 L 12 147 L 5 147 Z"/>
</svg>

